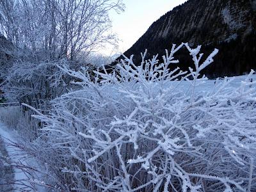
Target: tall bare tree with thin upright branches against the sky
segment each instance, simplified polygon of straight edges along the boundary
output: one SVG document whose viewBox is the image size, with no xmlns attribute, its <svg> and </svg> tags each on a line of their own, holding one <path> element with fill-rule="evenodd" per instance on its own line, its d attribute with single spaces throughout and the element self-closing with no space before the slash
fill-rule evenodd
<svg viewBox="0 0 256 192">
<path fill-rule="evenodd" d="M 105 43 L 115 43 L 109 10 L 121 0 L 3 0 L 0 32 L 19 47 L 43 51 L 51 60 L 74 60 Z"/>
</svg>

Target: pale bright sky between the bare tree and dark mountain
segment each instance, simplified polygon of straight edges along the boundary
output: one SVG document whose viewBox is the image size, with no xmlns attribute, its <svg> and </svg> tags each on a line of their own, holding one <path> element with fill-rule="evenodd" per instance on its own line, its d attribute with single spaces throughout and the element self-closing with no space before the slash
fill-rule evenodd
<svg viewBox="0 0 256 192">
<path fill-rule="evenodd" d="M 187 0 L 124 0 L 125 11 L 110 13 L 113 20 L 113 32 L 122 41 L 118 50 L 105 49 L 105 54 L 127 51 L 164 13 Z"/>
</svg>

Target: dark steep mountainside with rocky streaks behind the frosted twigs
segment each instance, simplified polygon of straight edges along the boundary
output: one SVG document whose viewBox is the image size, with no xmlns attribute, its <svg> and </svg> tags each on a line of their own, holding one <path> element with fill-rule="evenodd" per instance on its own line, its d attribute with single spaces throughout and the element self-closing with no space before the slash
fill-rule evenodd
<svg viewBox="0 0 256 192">
<path fill-rule="evenodd" d="M 124 54 L 134 54 L 134 63 L 140 63 L 140 52 L 145 49 L 151 58 L 165 54 L 172 44 L 189 42 L 193 47 L 202 45 L 205 54 L 220 49 L 204 71 L 208 77 L 237 76 L 256 68 L 255 29 L 256 0 L 189 0 L 154 22 Z M 185 49 L 175 58 L 182 70 L 192 65 Z"/>
</svg>

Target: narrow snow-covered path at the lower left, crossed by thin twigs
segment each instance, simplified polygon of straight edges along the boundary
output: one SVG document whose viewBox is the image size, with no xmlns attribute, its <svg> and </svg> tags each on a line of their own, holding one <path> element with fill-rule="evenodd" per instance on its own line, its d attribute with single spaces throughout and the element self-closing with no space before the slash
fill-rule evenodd
<svg viewBox="0 0 256 192">
<path fill-rule="evenodd" d="M 36 186 L 31 185 L 29 182 L 31 175 L 28 174 L 27 170 L 33 168 L 35 166 L 35 162 L 33 162 L 33 159 L 31 160 L 28 158 L 26 152 L 15 147 L 18 143 L 18 134 L 10 131 L 6 125 L 0 122 L 0 136 L 4 141 L 6 151 L 10 157 L 11 166 L 15 172 L 15 182 L 13 183 L 14 191 L 42 191 L 41 189 L 36 189 Z M 34 164 L 34 166 L 32 166 L 32 164 Z"/>
</svg>

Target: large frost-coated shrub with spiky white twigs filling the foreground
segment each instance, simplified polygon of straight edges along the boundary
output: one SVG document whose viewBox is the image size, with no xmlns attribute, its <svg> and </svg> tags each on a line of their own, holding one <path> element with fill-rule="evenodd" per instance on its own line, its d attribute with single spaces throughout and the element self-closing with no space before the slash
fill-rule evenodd
<svg viewBox="0 0 256 192">
<path fill-rule="evenodd" d="M 186 46 L 193 68 L 170 70 Z M 200 46 L 173 45 L 138 65 L 125 57 L 111 74 L 63 71 L 80 90 L 52 100 L 38 159 L 48 164 L 61 190 L 255 191 L 256 92 L 248 78 L 216 81 L 204 92 Z M 79 79 L 79 80 L 77 80 Z M 101 79 L 101 80 L 99 80 Z"/>
</svg>

